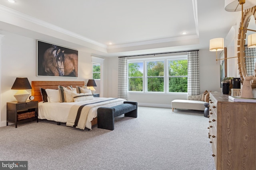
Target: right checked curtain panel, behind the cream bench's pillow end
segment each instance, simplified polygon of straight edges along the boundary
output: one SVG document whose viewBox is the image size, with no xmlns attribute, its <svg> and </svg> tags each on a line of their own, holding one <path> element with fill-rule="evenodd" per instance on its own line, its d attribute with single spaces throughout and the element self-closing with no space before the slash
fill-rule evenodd
<svg viewBox="0 0 256 170">
<path fill-rule="evenodd" d="M 188 96 L 200 94 L 199 51 L 188 52 Z"/>
</svg>

